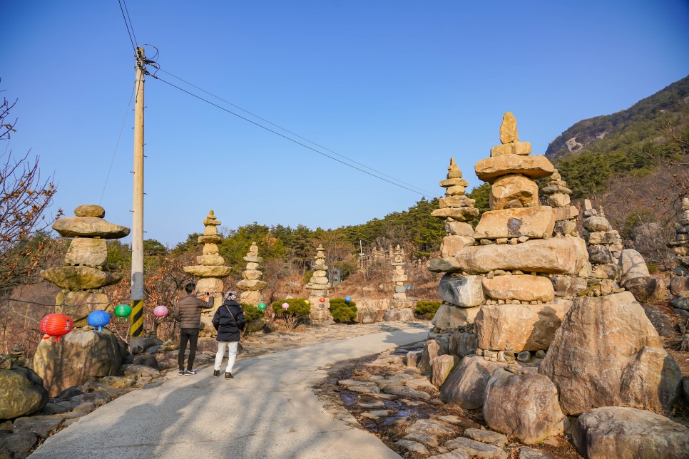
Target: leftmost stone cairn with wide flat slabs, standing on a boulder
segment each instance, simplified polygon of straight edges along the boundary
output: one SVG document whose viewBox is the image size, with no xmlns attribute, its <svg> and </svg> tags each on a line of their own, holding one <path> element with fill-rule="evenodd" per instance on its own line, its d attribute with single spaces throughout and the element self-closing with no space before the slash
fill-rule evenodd
<svg viewBox="0 0 689 459">
<path fill-rule="evenodd" d="M 106 222 L 106 211 L 99 205 L 80 205 L 74 215 L 53 223 L 62 237 L 73 238 L 65 265 L 41 271 L 41 276 L 62 289 L 55 298 L 55 311 L 68 314 L 80 327 L 91 311 L 112 307 L 103 287 L 117 284 L 123 274 L 108 271 L 106 239 L 126 237 L 129 228 Z"/>
</svg>

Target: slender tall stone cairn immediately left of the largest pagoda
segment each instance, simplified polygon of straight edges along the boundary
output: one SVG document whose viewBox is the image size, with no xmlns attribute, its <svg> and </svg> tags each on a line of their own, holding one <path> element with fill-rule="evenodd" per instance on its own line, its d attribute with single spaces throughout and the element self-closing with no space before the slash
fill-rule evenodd
<svg viewBox="0 0 689 459">
<path fill-rule="evenodd" d="M 438 289 L 442 305 L 431 321 L 433 331 L 437 334 L 462 328 L 473 329 L 474 318 L 484 301 L 479 276 L 469 277 L 453 272 L 457 252 L 475 242 L 474 227 L 466 221 L 476 218 L 479 210 L 474 207 L 476 201 L 464 194 L 466 185 L 469 184 L 461 178 L 459 166 L 454 158 L 450 158 L 446 179 L 440 181 L 440 186 L 445 188 L 445 197 L 440 198 L 439 209 L 431 213 L 433 217 L 445 220 L 446 232 L 440 245 L 440 258 L 432 259 L 428 265 L 432 272 L 448 273 L 442 277 Z"/>
</svg>

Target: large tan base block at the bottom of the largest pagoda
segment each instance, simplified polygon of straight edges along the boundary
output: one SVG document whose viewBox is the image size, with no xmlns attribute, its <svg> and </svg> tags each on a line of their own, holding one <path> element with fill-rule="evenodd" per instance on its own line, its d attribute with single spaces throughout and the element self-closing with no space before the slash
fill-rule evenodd
<svg viewBox="0 0 689 459">
<path fill-rule="evenodd" d="M 548 349 L 570 307 L 552 304 L 484 304 L 474 321 L 479 348 L 514 352 Z"/>
</svg>

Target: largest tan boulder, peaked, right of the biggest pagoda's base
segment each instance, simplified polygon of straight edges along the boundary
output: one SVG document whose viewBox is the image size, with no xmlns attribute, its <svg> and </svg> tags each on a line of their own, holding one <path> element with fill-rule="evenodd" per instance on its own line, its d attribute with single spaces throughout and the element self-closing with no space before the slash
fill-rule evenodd
<svg viewBox="0 0 689 459">
<path fill-rule="evenodd" d="M 681 377 L 629 292 L 576 299 L 540 373 L 555 383 L 568 415 L 599 406 L 669 409 Z"/>
</svg>

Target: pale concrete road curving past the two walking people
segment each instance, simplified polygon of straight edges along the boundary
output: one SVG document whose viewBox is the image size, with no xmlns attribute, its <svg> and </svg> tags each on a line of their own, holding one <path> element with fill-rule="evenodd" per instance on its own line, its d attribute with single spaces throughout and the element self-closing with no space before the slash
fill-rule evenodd
<svg viewBox="0 0 689 459">
<path fill-rule="evenodd" d="M 399 458 L 376 436 L 326 413 L 322 367 L 426 339 L 408 328 L 240 360 L 235 378 L 168 376 L 48 438 L 31 458 Z"/>
</svg>

